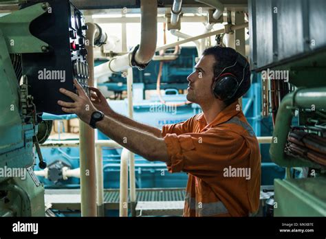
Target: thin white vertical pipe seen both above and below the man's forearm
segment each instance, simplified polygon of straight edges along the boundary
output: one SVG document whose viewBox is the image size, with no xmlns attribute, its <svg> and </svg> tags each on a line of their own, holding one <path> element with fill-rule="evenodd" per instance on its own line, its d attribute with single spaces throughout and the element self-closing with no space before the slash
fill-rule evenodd
<svg viewBox="0 0 326 239">
<path fill-rule="evenodd" d="M 127 98 L 128 98 L 128 116 L 133 119 L 133 70 L 128 69 L 127 72 Z M 128 181 L 128 174 L 127 174 Z M 135 154 L 129 153 L 129 185 L 130 185 L 130 203 L 131 203 L 131 216 L 135 216 Z"/>
</svg>

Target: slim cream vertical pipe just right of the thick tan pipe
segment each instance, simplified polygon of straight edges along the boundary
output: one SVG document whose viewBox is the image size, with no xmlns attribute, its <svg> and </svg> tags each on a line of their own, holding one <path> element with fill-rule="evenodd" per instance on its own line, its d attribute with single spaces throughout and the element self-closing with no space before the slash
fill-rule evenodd
<svg viewBox="0 0 326 239">
<path fill-rule="evenodd" d="M 98 216 L 105 216 L 104 193 L 103 193 L 103 159 L 102 147 L 96 146 L 96 198 Z"/>
</svg>

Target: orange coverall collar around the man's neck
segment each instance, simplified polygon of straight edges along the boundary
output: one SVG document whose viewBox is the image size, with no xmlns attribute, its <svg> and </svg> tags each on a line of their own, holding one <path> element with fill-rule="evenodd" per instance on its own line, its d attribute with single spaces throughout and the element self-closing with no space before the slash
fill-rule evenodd
<svg viewBox="0 0 326 239">
<path fill-rule="evenodd" d="M 217 117 L 215 117 L 215 119 L 213 120 L 213 122 L 210 122 L 210 124 L 207 125 L 207 122 L 205 120 L 204 117 L 204 113 L 201 113 L 199 115 L 199 117 L 197 118 L 197 120 L 202 123 L 203 126 L 205 126 L 205 128 L 210 128 L 212 126 L 217 126 L 218 124 L 222 124 L 224 122 L 227 122 L 228 120 L 230 120 L 230 118 L 232 118 L 233 116 L 237 115 L 238 113 L 241 112 L 241 107 L 239 104 L 239 101 L 235 101 L 232 104 L 230 104 L 229 106 L 226 106 L 225 109 L 223 109 L 223 111 L 221 111 Z"/>
</svg>

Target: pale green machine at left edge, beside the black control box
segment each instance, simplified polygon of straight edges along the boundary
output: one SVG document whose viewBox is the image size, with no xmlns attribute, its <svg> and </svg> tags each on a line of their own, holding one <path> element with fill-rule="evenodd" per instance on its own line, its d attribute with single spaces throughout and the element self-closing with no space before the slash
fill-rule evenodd
<svg viewBox="0 0 326 239">
<path fill-rule="evenodd" d="M 0 17 L 0 216 L 45 215 L 44 187 L 32 170 L 36 134 L 44 126 L 20 62 L 21 54 L 41 54 L 48 47 L 29 30 L 45 12 L 47 5 L 37 3 Z"/>
</svg>

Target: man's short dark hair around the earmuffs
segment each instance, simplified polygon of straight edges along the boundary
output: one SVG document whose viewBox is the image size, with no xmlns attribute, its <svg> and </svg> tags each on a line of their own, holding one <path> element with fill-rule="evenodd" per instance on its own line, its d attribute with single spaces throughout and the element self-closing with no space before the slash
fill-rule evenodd
<svg viewBox="0 0 326 239">
<path fill-rule="evenodd" d="M 208 55 L 213 55 L 216 61 L 215 64 L 213 65 L 213 71 L 214 71 L 213 81 L 214 81 L 215 78 L 219 76 L 219 74 L 221 73 L 221 71 L 223 71 L 225 67 L 229 67 L 235 64 L 235 60 L 237 59 L 238 53 L 235 51 L 235 49 L 232 49 L 230 47 L 215 46 L 215 47 L 209 47 L 204 50 L 203 56 L 208 56 Z M 239 65 L 239 63 L 237 63 L 234 67 L 230 67 L 229 69 L 226 69 L 224 73 L 226 72 L 234 74 L 237 77 L 239 84 L 243 76 L 243 82 L 239 86 L 237 93 L 235 93 L 235 95 L 232 98 L 230 98 L 230 100 L 224 101 L 224 104 L 228 106 L 229 104 L 232 104 L 237 99 L 239 99 L 242 95 L 244 95 L 250 88 L 251 82 L 250 82 L 249 62 L 244 71 L 244 75 L 243 75 L 243 67 Z"/>
</svg>

